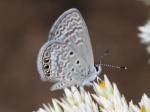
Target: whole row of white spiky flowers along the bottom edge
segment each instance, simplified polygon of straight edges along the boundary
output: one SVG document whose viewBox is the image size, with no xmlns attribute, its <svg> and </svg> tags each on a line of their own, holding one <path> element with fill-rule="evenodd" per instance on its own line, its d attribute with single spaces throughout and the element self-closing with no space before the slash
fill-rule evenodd
<svg viewBox="0 0 150 112">
<path fill-rule="evenodd" d="M 83 87 L 72 86 L 71 90 L 64 89 L 65 96 L 61 101 L 53 99 L 50 104 L 40 108 L 37 112 L 150 112 L 150 99 L 143 95 L 139 107 L 128 103 L 120 94 L 115 83 L 111 84 L 106 75 L 100 84 L 94 83 L 95 94 L 86 92 Z"/>
</svg>

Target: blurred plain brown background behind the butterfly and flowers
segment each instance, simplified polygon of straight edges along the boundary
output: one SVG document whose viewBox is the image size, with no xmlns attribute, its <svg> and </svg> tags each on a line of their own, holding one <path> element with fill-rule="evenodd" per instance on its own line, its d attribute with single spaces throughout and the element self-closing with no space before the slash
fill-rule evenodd
<svg viewBox="0 0 150 112">
<path fill-rule="evenodd" d="M 129 102 L 150 97 L 150 65 L 146 46 L 139 42 L 138 26 L 148 17 L 148 6 L 138 0 L 0 0 L 0 112 L 32 112 L 62 97 L 51 92 L 37 72 L 37 54 L 47 41 L 55 20 L 69 8 L 77 8 L 87 24 L 94 58 L 106 50 L 102 63 L 127 66 L 127 70 L 103 67 Z M 92 91 L 91 87 L 86 90 Z"/>
</svg>

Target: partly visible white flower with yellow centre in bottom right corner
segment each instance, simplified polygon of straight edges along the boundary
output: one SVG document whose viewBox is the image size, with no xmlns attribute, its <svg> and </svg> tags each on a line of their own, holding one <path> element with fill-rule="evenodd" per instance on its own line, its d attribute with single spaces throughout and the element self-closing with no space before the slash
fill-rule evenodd
<svg viewBox="0 0 150 112">
<path fill-rule="evenodd" d="M 132 101 L 129 104 L 134 112 L 150 112 L 150 98 L 146 94 L 142 96 L 141 102 L 139 103 L 140 107 L 134 105 Z"/>
</svg>

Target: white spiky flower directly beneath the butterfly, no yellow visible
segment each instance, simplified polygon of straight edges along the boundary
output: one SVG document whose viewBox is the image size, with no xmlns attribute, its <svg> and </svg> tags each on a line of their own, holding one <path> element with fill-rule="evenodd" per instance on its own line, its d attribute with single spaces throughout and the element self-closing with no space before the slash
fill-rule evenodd
<svg viewBox="0 0 150 112">
<path fill-rule="evenodd" d="M 44 105 L 45 109 L 40 108 L 37 112 L 99 112 L 97 104 L 91 98 L 89 92 L 80 87 L 80 92 L 74 86 L 71 90 L 64 89 L 65 96 L 61 101 L 53 99 L 54 107 Z"/>
</svg>

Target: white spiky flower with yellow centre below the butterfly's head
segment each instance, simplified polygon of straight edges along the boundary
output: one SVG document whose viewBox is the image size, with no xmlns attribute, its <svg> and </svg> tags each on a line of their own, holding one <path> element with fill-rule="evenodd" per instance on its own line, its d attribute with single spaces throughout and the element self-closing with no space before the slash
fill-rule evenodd
<svg viewBox="0 0 150 112">
<path fill-rule="evenodd" d="M 94 85 L 97 95 L 93 94 L 92 96 L 99 104 L 102 112 L 132 112 L 116 84 L 113 83 L 112 86 L 106 75 L 104 75 L 104 81 L 101 81 L 100 85 L 96 83 Z"/>
</svg>

